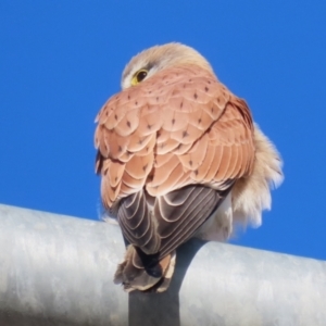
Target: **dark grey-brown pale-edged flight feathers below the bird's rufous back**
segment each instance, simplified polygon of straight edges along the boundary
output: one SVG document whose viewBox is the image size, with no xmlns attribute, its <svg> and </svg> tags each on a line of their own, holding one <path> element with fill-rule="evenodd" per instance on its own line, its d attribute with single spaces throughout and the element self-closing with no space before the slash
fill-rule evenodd
<svg viewBox="0 0 326 326">
<path fill-rule="evenodd" d="M 154 265 L 153 261 L 158 262 L 191 238 L 229 189 L 216 191 L 189 185 L 154 198 L 153 206 L 149 196 L 138 191 L 122 200 L 118 222 L 127 241 L 146 254 L 142 264 Z"/>
</svg>

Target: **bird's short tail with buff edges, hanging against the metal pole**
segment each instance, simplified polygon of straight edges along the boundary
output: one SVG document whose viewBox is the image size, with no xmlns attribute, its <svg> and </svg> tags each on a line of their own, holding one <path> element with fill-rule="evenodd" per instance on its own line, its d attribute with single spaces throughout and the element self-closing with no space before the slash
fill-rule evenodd
<svg viewBox="0 0 326 326">
<path fill-rule="evenodd" d="M 175 267 L 175 251 L 160 261 L 152 260 L 150 264 L 145 262 L 142 255 L 134 246 L 129 244 L 124 261 L 117 265 L 114 283 L 122 284 L 127 292 L 134 290 L 165 291 Z"/>
</svg>

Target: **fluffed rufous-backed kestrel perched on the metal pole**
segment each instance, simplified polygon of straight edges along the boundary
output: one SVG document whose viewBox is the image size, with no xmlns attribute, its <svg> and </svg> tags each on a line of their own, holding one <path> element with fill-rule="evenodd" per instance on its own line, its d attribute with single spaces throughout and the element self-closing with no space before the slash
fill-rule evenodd
<svg viewBox="0 0 326 326">
<path fill-rule="evenodd" d="M 261 224 L 281 161 L 247 103 L 190 47 L 139 53 L 122 88 L 99 112 L 95 135 L 102 202 L 127 242 L 114 280 L 160 292 L 189 238 L 224 241 L 236 223 Z"/>
</svg>

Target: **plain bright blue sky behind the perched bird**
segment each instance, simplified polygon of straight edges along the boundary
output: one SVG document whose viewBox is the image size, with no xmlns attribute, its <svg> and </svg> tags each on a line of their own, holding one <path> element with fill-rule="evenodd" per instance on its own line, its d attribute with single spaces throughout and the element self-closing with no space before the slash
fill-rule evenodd
<svg viewBox="0 0 326 326">
<path fill-rule="evenodd" d="M 244 98 L 285 161 L 237 244 L 326 260 L 323 1 L 0 2 L 0 202 L 98 218 L 93 120 L 130 57 L 180 41 Z"/>
</svg>

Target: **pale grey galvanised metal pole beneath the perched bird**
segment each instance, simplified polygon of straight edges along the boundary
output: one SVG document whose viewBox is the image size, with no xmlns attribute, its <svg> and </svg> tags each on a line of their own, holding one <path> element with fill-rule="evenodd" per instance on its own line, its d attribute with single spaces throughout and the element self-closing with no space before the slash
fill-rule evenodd
<svg viewBox="0 0 326 326">
<path fill-rule="evenodd" d="M 117 226 L 0 205 L 0 325 L 326 325 L 326 262 L 202 244 L 167 292 L 128 296 Z"/>
</svg>

